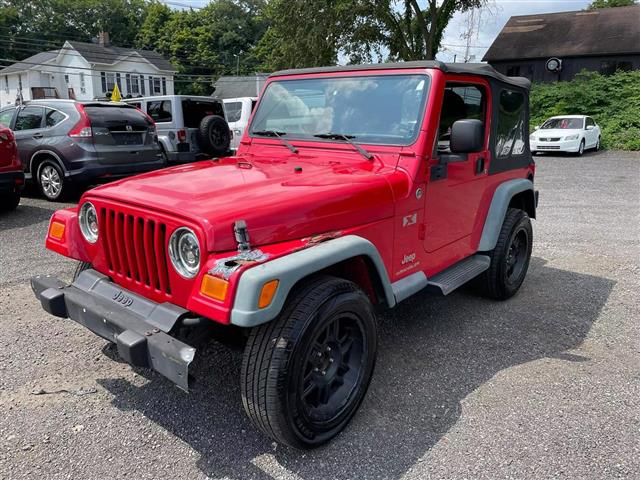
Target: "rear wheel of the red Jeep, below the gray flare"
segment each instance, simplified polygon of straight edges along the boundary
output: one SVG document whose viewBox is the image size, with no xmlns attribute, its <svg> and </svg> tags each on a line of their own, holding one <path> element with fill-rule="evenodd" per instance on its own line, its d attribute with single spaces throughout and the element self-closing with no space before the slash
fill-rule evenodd
<svg viewBox="0 0 640 480">
<path fill-rule="evenodd" d="M 533 228 L 524 210 L 507 210 L 496 247 L 488 252 L 489 269 L 480 276 L 483 293 L 496 300 L 511 298 L 520 289 L 529 269 Z"/>
</svg>

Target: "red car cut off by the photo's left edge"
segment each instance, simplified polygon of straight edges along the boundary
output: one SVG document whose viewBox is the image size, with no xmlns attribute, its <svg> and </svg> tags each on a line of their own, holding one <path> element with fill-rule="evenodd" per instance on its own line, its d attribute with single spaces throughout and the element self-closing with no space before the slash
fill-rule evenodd
<svg viewBox="0 0 640 480">
<path fill-rule="evenodd" d="M 0 124 L 0 211 L 18 206 L 23 187 L 24 172 L 13 132 Z"/>
</svg>

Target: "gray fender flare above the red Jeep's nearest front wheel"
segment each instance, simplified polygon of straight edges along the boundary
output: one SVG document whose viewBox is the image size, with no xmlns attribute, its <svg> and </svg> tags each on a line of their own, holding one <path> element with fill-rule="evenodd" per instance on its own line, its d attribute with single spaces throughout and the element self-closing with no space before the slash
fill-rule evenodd
<svg viewBox="0 0 640 480">
<path fill-rule="evenodd" d="M 389 307 L 393 307 L 396 299 L 380 253 L 366 238 L 347 235 L 266 261 L 242 273 L 231 310 L 231 323 L 240 327 L 254 327 L 273 320 L 282 310 L 289 292 L 298 281 L 357 256 L 366 256 L 371 260 L 380 276 L 386 301 Z M 280 283 L 271 304 L 259 308 L 258 299 L 262 286 L 274 279 Z"/>
</svg>

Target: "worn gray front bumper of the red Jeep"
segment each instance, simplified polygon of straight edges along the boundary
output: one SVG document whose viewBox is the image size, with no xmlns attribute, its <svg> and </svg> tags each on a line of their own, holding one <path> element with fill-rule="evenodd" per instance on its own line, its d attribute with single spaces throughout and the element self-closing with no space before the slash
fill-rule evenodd
<svg viewBox="0 0 640 480">
<path fill-rule="evenodd" d="M 50 314 L 84 325 L 115 343 L 127 363 L 151 368 L 188 391 L 189 364 L 196 350 L 169 334 L 187 310 L 152 302 L 95 270 L 85 270 L 71 285 L 36 276 L 31 288 Z"/>
</svg>

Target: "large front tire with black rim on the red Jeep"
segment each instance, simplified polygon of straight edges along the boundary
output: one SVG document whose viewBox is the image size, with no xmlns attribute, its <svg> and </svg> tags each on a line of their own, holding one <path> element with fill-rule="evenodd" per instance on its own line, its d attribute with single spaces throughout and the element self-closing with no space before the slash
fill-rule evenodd
<svg viewBox="0 0 640 480">
<path fill-rule="evenodd" d="M 253 329 L 242 362 L 242 402 L 253 424 L 295 448 L 321 445 L 356 413 L 373 374 L 376 322 L 354 283 L 318 277 L 282 313 Z"/>
</svg>

